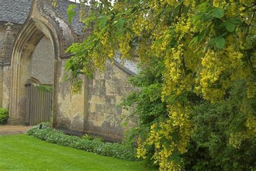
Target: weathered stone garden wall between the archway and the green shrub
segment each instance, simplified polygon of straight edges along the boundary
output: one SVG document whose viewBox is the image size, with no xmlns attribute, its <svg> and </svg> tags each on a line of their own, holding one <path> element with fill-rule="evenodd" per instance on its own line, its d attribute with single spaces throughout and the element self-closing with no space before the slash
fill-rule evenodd
<svg viewBox="0 0 256 171">
<path fill-rule="evenodd" d="M 127 111 L 117 107 L 117 104 L 134 90 L 127 81 L 131 75 L 108 62 L 105 72 L 96 71 L 93 79 L 81 76 L 85 80 L 83 91 L 71 95 L 69 83 L 63 82 L 65 61 L 58 61 L 58 109 L 55 113 L 55 126 L 110 141 L 122 140 L 124 127 L 120 117 Z"/>
</svg>

